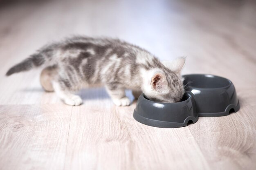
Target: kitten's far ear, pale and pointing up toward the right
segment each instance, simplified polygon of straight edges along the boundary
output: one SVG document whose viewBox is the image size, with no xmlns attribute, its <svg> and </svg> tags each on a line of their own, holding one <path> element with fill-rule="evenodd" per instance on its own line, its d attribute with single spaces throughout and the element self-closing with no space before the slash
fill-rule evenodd
<svg viewBox="0 0 256 170">
<path fill-rule="evenodd" d="M 171 71 L 180 73 L 185 64 L 185 61 L 186 61 L 186 57 L 178 57 L 172 61 L 162 61 L 162 63 L 164 64 L 164 66 L 169 68 Z"/>
</svg>

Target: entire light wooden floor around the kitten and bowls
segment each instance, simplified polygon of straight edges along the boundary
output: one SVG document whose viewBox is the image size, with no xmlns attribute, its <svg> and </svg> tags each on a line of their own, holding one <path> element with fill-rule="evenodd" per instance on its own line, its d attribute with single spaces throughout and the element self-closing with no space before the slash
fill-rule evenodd
<svg viewBox="0 0 256 170">
<path fill-rule="evenodd" d="M 0 2 L 0 170 L 255 170 L 256 3 L 224 0 Z M 240 110 L 154 128 L 112 104 L 103 88 L 62 104 L 40 70 L 5 77 L 43 44 L 67 35 L 110 36 L 162 60 L 187 56 L 183 74 L 236 86 Z M 128 91 L 128 95 L 132 95 Z"/>
</svg>

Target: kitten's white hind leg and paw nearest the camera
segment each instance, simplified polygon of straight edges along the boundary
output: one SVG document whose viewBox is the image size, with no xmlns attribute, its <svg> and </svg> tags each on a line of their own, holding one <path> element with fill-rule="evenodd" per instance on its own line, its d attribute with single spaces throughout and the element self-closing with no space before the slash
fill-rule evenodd
<svg viewBox="0 0 256 170">
<path fill-rule="evenodd" d="M 68 104 L 71 106 L 78 106 L 83 103 L 83 100 L 81 99 L 80 96 L 74 95 L 69 91 L 65 91 L 63 88 L 61 88 L 58 82 L 52 81 L 52 86 L 54 88 L 55 93 L 58 95 L 58 97 L 61 100 L 63 100 L 65 104 Z"/>
</svg>

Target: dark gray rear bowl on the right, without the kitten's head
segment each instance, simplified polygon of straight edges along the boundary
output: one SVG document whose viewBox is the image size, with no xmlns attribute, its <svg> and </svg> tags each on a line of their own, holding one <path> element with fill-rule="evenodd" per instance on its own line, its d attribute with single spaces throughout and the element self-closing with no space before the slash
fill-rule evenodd
<svg viewBox="0 0 256 170">
<path fill-rule="evenodd" d="M 198 116 L 216 117 L 240 108 L 234 84 L 215 75 L 183 75 L 187 93 L 195 99 Z"/>
</svg>

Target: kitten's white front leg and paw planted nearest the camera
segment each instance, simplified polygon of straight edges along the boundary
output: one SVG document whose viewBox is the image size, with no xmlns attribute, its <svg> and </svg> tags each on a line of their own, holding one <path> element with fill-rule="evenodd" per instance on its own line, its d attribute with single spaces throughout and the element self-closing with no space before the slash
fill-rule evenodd
<svg viewBox="0 0 256 170">
<path fill-rule="evenodd" d="M 131 101 L 125 95 L 124 88 L 111 89 L 108 86 L 106 87 L 108 94 L 110 95 L 112 101 L 117 106 L 129 106 Z"/>
</svg>

